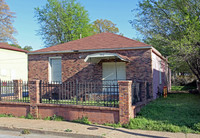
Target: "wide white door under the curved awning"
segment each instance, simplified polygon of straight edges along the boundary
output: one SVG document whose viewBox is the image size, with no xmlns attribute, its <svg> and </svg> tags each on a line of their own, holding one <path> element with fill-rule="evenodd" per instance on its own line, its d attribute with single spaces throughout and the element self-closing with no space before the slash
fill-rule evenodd
<svg viewBox="0 0 200 138">
<path fill-rule="evenodd" d="M 126 80 L 125 62 L 103 63 L 103 91 L 118 92 L 117 81 Z M 113 86 L 113 88 L 111 88 Z"/>
</svg>

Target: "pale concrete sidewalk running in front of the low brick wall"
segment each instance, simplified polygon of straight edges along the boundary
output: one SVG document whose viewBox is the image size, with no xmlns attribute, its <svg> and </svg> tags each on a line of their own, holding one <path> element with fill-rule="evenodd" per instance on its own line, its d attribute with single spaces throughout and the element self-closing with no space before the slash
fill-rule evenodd
<svg viewBox="0 0 200 138">
<path fill-rule="evenodd" d="M 0 130 L 22 131 L 68 137 L 106 137 L 106 138 L 200 138 L 198 134 L 170 133 L 159 131 L 114 129 L 102 125 L 82 125 L 67 121 L 29 120 L 21 118 L 0 118 Z M 72 132 L 65 132 L 66 129 Z"/>
</svg>

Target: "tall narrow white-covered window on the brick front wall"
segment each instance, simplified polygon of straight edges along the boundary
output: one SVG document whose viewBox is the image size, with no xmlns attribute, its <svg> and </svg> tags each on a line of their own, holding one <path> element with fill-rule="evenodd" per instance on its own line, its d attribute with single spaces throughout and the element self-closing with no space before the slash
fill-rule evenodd
<svg viewBox="0 0 200 138">
<path fill-rule="evenodd" d="M 62 81 L 62 65 L 61 57 L 49 58 L 49 81 L 61 82 Z"/>
</svg>

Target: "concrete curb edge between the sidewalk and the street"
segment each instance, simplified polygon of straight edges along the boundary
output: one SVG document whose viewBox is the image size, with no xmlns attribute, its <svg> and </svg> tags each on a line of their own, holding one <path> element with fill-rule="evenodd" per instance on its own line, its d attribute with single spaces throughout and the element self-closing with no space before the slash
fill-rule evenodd
<svg viewBox="0 0 200 138">
<path fill-rule="evenodd" d="M 26 128 L 16 128 L 16 127 L 3 127 L 0 126 L 0 130 L 7 130 L 7 131 L 18 131 L 22 132 Z M 55 136 L 68 136 L 73 138 L 102 138 L 102 136 L 95 136 L 95 135 L 87 135 L 87 134 L 77 134 L 71 132 L 55 132 L 55 131 L 48 131 L 48 130 L 37 130 L 37 129 L 27 129 L 30 133 L 35 134 L 48 134 L 48 135 L 55 135 Z"/>
</svg>

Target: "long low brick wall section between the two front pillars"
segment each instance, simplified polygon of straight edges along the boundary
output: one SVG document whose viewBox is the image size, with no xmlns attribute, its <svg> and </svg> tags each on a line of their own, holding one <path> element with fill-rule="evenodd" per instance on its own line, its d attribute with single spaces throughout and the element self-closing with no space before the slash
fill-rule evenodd
<svg viewBox="0 0 200 138">
<path fill-rule="evenodd" d="M 55 114 L 69 121 L 88 117 L 89 121 L 99 124 L 119 122 L 119 109 L 110 107 L 40 104 L 38 113 L 41 118 Z"/>
</svg>

